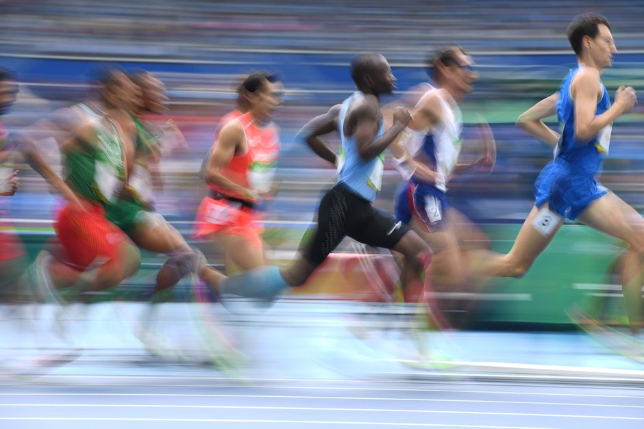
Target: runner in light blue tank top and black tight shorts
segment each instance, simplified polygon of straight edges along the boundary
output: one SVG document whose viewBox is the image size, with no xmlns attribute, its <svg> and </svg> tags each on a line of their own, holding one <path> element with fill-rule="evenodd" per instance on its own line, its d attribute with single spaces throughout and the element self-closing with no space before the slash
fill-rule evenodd
<svg viewBox="0 0 644 429">
<path fill-rule="evenodd" d="M 379 97 L 393 90 L 395 78 L 382 55 L 357 55 L 351 63 L 351 77 L 358 90 L 342 105 L 308 122 L 299 133 L 317 155 L 338 165 L 339 170 L 338 181 L 321 200 L 317 226 L 308 244 L 288 268 L 267 266 L 224 279 L 219 285 L 222 296 L 271 301 L 284 289 L 304 284 L 348 235 L 358 242 L 403 254 L 407 261 L 405 290 L 408 298 L 418 298 L 423 289 L 420 274 L 428 267 L 430 249 L 406 225 L 371 204 L 382 181 L 382 153 L 411 117 L 405 109 L 396 109 L 392 127 L 384 130 Z M 340 159 L 320 138 L 336 132 L 342 141 Z"/>
</svg>

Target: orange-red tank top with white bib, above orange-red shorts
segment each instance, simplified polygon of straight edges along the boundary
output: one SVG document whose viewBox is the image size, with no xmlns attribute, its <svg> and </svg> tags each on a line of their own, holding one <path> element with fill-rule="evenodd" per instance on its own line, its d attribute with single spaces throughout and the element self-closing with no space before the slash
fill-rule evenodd
<svg viewBox="0 0 644 429">
<path fill-rule="evenodd" d="M 223 122 L 223 121 L 226 122 Z M 273 122 L 264 127 L 256 125 L 250 113 L 240 114 L 238 111 L 230 112 L 221 118 L 225 125 L 231 120 L 238 120 L 244 128 L 246 135 L 245 153 L 235 154 L 230 164 L 219 169 L 226 179 L 234 181 L 251 190 L 269 192 L 275 179 L 277 157 L 280 153 L 280 138 Z M 220 127 L 221 129 L 221 127 Z M 216 144 L 216 142 L 215 142 Z M 208 183 L 210 189 L 221 194 L 241 200 L 249 200 L 247 196 L 236 194 L 225 187 Z"/>
</svg>

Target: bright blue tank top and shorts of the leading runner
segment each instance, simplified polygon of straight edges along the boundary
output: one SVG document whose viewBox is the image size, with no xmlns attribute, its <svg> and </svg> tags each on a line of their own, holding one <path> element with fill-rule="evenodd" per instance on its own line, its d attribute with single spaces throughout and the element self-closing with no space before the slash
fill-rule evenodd
<svg viewBox="0 0 644 429">
<path fill-rule="evenodd" d="M 597 183 L 604 157 L 610 146 L 612 125 L 607 125 L 588 141 L 575 136 L 575 102 L 570 94 L 571 83 L 583 66 L 574 68 L 562 81 L 557 103 L 557 118 L 561 127 L 560 140 L 554 159 L 541 170 L 534 183 L 536 207 L 548 203 L 558 215 L 575 220 L 594 200 L 608 193 Z M 597 102 L 595 114 L 600 115 L 610 107 L 606 86 Z"/>
</svg>

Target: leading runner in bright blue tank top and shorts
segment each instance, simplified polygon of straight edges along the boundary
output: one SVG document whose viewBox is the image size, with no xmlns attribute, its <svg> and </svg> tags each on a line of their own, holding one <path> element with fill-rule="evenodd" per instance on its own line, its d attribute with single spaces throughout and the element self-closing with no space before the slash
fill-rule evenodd
<svg viewBox="0 0 644 429">
<path fill-rule="evenodd" d="M 630 245 L 622 285 L 633 334 L 642 327 L 644 219 L 630 205 L 597 182 L 610 146 L 612 122 L 637 103 L 633 88 L 623 86 L 611 105 L 602 83 L 604 68 L 617 53 L 604 16 L 582 14 L 568 27 L 578 66 L 560 90 L 519 116 L 517 124 L 556 146 L 554 160 L 534 184 L 535 204 L 507 255 L 488 254 L 479 270 L 488 276 L 521 277 L 545 250 L 564 220 L 580 222 Z M 556 114 L 560 133 L 542 120 Z"/>
</svg>

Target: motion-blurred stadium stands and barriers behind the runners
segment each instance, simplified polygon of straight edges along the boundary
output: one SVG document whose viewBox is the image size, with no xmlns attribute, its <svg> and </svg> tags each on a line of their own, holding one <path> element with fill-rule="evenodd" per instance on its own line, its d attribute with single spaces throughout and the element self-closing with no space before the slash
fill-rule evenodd
<svg viewBox="0 0 644 429">
<path fill-rule="evenodd" d="M 619 85 L 644 88 L 644 5 L 636 0 L 2 1 L 0 61 L 20 83 L 18 101 L 3 122 L 16 131 L 56 107 L 82 100 L 88 71 L 97 63 L 150 71 L 164 81 L 170 97 L 171 108 L 158 121 L 173 118 L 187 141 L 187 148 L 178 140 L 166 144 L 165 185 L 157 191 L 156 206 L 189 237 L 205 192 L 199 168 L 219 118 L 234 108 L 238 77 L 250 70 L 279 72 L 286 88 L 275 117 L 283 148 L 281 189 L 267 212 L 266 239 L 271 257 L 281 261 L 295 252 L 320 192 L 334 177 L 331 166 L 295 142 L 295 133 L 354 89 L 351 57 L 359 51 L 387 57 L 398 79 L 397 93 L 383 100 L 390 103 L 427 81 L 424 62 L 438 45 L 457 43 L 480 72 L 462 104 L 465 122 L 478 122 L 480 115 L 491 124 L 497 164 L 490 175 L 451 183 L 450 203 L 488 233 L 495 250 L 507 251 L 532 208 L 534 179 L 552 157 L 551 148 L 514 122 L 555 92 L 576 64 L 565 29 L 573 16 L 589 11 L 608 18 L 620 51 L 604 74 L 611 97 Z M 602 176 L 604 185 L 639 211 L 644 203 L 643 119 L 639 108 L 617 120 Z M 466 138 L 471 134 L 469 127 Z M 478 151 L 465 145 L 465 156 Z M 45 151 L 51 159 L 58 157 L 53 142 Z M 33 256 L 53 234 L 56 197 L 20 159 L 16 163 L 21 187 L 16 196 L 4 198 L 3 217 L 17 226 Z M 387 166 L 376 205 L 391 212 L 400 179 L 393 164 Z M 206 250 L 211 263 L 221 263 L 216 249 Z M 602 311 L 619 321 L 621 289 L 610 273 L 620 250 L 619 242 L 569 223 L 524 278 L 497 280 L 482 291 L 444 294 L 443 299 L 467 302 L 471 328 L 569 327 L 565 309 L 573 303 L 606 305 Z M 156 262 L 154 255 L 144 255 L 142 270 L 123 287 L 145 296 Z M 327 270 L 340 268 L 331 264 Z M 319 274 L 301 296 L 347 298 L 364 286 L 360 276 L 344 274 Z M 177 299 L 181 296 L 179 289 Z"/>
</svg>

